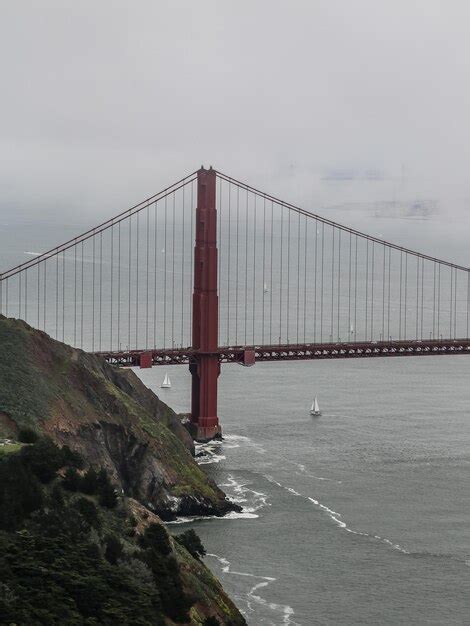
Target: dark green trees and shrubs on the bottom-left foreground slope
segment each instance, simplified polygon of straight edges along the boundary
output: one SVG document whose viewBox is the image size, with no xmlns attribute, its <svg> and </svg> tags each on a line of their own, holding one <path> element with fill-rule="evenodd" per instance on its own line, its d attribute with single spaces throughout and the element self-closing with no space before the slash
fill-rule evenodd
<svg viewBox="0 0 470 626">
<path fill-rule="evenodd" d="M 80 475 L 77 464 L 45 438 L 0 459 L 2 623 L 187 622 L 194 599 L 165 528 L 130 538 L 135 519 L 106 472 Z M 110 489 L 113 511 L 102 502 Z"/>
</svg>

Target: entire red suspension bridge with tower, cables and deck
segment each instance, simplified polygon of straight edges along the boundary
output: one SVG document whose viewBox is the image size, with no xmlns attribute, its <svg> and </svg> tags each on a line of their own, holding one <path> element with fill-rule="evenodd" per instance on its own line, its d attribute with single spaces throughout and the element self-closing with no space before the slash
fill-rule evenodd
<svg viewBox="0 0 470 626">
<path fill-rule="evenodd" d="M 195 439 L 221 363 L 470 354 L 470 269 L 203 167 L 0 274 L 0 313 L 121 366 L 189 364 Z"/>
</svg>

